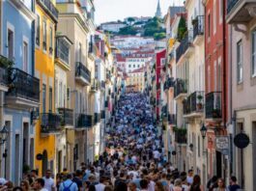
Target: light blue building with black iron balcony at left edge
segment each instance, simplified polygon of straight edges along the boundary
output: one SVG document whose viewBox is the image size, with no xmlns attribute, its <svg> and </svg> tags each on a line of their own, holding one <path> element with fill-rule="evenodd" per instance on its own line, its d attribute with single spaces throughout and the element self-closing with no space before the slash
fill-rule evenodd
<svg viewBox="0 0 256 191">
<path fill-rule="evenodd" d="M 0 62 L 8 59 L 14 66 L 6 72 L 7 92 L 1 93 L 3 98 L 0 103 L 3 109 L 0 120 L 1 125 L 8 128 L 9 136 L 5 144 L 7 157 L 1 158 L 0 172 L 1 177 L 14 181 L 14 184 L 18 184 L 22 178 L 24 166 L 34 167 L 33 114 L 36 113 L 34 111 L 39 107 L 40 100 L 40 81 L 33 77 L 36 18 L 34 9 L 34 0 L 2 1 Z M 1 67 L 4 70 L 3 65 Z M 1 150 L 2 153 L 3 151 Z"/>
</svg>

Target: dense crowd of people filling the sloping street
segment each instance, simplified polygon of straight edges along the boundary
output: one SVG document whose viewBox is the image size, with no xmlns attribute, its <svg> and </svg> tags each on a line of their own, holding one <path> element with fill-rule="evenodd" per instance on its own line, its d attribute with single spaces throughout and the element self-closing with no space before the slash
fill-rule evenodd
<svg viewBox="0 0 256 191">
<path fill-rule="evenodd" d="M 106 150 L 93 164 L 82 163 L 72 174 L 64 169 L 56 181 L 49 170 L 45 177 L 32 171 L 14 189 L 2 178 L 0 191 L 204 191 L 200 176 L 193 170 L 179 172 L 167 161 L 161 130 L 145 95 L 123 95 L 106 133 Z M 239 189 L 236 177 L 231 177 L 229 186 L 217 177 L 207 185 L 210 191 Z"/>
</svg>

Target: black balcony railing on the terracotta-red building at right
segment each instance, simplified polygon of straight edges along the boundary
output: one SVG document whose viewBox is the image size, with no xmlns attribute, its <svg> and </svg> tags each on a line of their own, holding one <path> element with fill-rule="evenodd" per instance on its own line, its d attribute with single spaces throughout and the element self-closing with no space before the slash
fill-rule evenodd
<svg viewBox="0 0 256 191">
<path fill-rule="evenodd" d="M 206 95 L 206 119 L 221 119 L 221 92 L 212 92 Z"/>
</svg>

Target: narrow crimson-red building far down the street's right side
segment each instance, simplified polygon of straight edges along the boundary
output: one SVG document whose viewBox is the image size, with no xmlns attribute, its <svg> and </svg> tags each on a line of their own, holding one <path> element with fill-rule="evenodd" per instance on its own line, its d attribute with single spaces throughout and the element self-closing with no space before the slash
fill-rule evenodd
<svg viewBox="0 0 256 191">
<path fill-rule="evenodd" d="M 165 54 L 166 50 L 161 50 L 156 53 L 156 119 L 159 119 L 159 111 L 160 111 L 160 79 L 161 79 L 161 69 L 163 63 L 165 63 Z"/>
</svg>

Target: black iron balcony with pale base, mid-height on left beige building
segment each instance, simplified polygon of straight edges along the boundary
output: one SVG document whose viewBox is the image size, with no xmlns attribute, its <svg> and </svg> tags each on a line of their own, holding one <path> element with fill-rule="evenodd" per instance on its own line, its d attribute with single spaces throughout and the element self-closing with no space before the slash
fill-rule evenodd
<svg viewBox="0 0 256 191">
<path fill-rule="evenodd" d="M 78 82 L 89 86 L 91 83 L 91 71 L 80 62 L 76 62 L 75 65 L 75 79 Z"/>
</svg>

